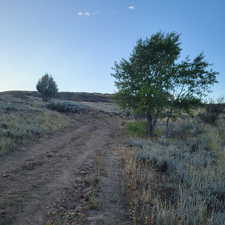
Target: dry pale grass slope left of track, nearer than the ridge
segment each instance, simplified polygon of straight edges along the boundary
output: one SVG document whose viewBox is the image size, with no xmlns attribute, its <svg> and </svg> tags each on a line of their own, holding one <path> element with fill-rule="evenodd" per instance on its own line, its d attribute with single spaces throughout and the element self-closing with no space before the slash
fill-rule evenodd
<svg viewBox="0 0 225 225">
<path fill-rule="evenodd" d="M 70 126 L 71 119 L 52 112 L 38 98 L 0 98 L 0 155 L 14 151 L 21 144 L 43 134 Z"/>
</svg>

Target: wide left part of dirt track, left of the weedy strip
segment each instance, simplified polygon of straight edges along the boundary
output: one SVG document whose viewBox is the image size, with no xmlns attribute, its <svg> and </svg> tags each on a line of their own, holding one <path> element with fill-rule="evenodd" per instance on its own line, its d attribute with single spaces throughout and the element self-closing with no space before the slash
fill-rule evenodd
<svg viewBox="0 0 225 225">
<path fill-rule="evenodd" d="M 45 225 L 49 212 L 58 206 L 76 208 L 81 196 L 77 193 L 81 168 L 89 161 L 93 163 L 98 152 L 110 152 L 119 140 L 118 133 L 117 118 L 82 115 L 74 128 L 0 158 L 0 225 Z M 113 160 L 108 159 L 111 166 Z M 114 178 L 108 179 L 112 182 Z M 114 186 L 117 191 L 117 181 Z M 108 195 L 113 191 L 107 187 L 107 180 L 103 189 Z M 107 205 L 110 199 L 104 199 Z"/>
</svg>

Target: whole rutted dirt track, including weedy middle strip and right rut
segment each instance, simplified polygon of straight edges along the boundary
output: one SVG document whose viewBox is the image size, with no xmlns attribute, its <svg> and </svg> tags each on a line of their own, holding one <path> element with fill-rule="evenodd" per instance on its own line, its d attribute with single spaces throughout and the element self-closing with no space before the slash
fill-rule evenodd
<svg viewBox="0 0 225 225">
<path fill-rule="evenodd" d="M 0 158 L 0 225 L 127 224 L 113 151 L 121 140 L 117 117 L 92 112 Z"/>
</svg>

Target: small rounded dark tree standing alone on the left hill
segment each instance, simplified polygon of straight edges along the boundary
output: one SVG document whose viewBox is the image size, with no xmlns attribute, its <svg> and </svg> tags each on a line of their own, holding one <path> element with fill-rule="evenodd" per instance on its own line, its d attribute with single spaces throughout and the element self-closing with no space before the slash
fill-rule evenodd
<svg viewBox="0 0 225 225">
<path fill-rule="evenodd" d="M 38 92 L 41 94 L 43 101 L 47 102 L 55 97 L 58 87 L 51 75 L 45 74 L 37 83 Z"/>
</svg>

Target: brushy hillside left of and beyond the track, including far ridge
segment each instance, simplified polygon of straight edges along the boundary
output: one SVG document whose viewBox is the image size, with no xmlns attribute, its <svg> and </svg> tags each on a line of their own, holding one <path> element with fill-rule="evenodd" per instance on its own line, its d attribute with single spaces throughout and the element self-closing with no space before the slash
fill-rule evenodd
<svg viewBox="0 0 225 225">
<path fill-rule="evenodd" d="M 89 110 L 89 106 L 107 112 L 118 111 L 110 95 L 62 92 L 51 103 L 43 103 L 37 92 L 1 93 L 0 155 L 43 135 L 70 127 L 73 118 L 65 113 L 81 113 Z"/>
</svg>

